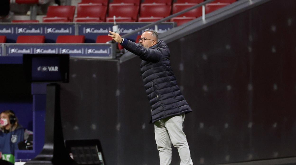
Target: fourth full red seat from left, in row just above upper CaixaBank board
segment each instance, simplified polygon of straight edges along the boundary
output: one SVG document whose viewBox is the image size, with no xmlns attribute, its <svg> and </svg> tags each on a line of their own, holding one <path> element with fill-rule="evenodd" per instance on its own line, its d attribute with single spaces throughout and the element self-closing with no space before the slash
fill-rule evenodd
<svg viewBox="0 0 296 165">
<path fill-rule="evenodd" d="M 141 4 L 140 17 L 168 17 L 171 9 L 166 4 Z"/>
</svg>

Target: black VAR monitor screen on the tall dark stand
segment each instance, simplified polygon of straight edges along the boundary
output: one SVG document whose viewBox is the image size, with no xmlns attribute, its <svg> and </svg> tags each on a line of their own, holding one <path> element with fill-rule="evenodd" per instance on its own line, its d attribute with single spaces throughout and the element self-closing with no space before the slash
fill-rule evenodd
<svg viewBox="0 0 296 165">
<path fill-rule="evenodd" d="M 31 82 L 69 82 L 69 54 L 24 54 L 26 78 Z"/>
</svg>

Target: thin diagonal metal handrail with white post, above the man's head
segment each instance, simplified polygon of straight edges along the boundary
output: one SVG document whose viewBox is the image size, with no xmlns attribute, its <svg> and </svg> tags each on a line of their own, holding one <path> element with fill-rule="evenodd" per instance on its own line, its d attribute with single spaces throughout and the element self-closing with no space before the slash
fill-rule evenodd
<svg viewBox="0 0 296 165">
<path fill-rule="evenodd" d="M 186 12 L 188 12 L 188 11 L 190 11 L 190 10 L 192 10 L 192 9 L 195 9 L 195 8 L 197 8 L 197 7 L 200 7 L 200 6 L 202 6 L 202 19 L 205 20 L 205 4 L 208 4 L 208 3 L 213 2 L 213 1 L 215 1 L 215 0 L 207 0 L 207 1 L 204 1 L 204 2 L 202 2 L 202 3 L 200 3 L 200 4 L 197 4 L 197 5 L 195 5 L 195 6 L 192 6 L 192 7 L 189 7 L 189 8 L 187 8 L 187 9 L 184 9 L 184 10 L 182 10 L 181 12 L 178 12 L 178 13 L 172 14 L 172 15 L 170 15 L 170 16 L 168 16 L 168 17 L 165 17 L 165 18 L 160 19 L 160 20 L 158 20 L 158 21 L 156 21 L 156 22 L 153 22 L 153 23 L 151 23 L 151 24 L 148 24 L 148 25 L 146 25 L 146 26 L 144 26 L 144 27 L 141 27 L 141 28 L 139 28 L 139 29 L 137 29 L 137 30 L 134 30 L 134 31 L 132 31 L 132 32 L 130 32 L 130 33 L 128 33 L 128 34 L 125 34 L 125 35 L 121 36 L 121 37 L 128 37 L 128 36 L 130 36 L 130 35 L 136 34 L 136 33 L 140 32 L 141 30 L 145 30 L 145 29 L 147 29 L 147 28 L 149 28 L 149 27 L 151 27 L 151 26 L 153 26 L 153 25 L 157 25 L 157 24 L 159 24 L 159 23 L 161 23 L 161 22 L 167 21 L 167 20 L 169 20 L 169 19 L 171 19 L 171 18 L 173 18 L 173 17 L 176 17 L 176 16 L 178 16 L 178 15 L 181 15 L 181 14 L 183 14 L 183 13 L 186 13 Z M 157 27 L 156 27 L 155 29 L 157 29 Z"/>
</svg>

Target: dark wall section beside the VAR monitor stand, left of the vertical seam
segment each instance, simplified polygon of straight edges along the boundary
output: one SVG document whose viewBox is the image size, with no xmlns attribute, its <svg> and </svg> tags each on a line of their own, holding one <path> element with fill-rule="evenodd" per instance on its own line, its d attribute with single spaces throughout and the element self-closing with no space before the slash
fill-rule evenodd
<svg viewBox="0 0 296 165">
<path fill-rule="evenodd" d="M 61 86 L 64 138 L 99 139 L 107 164 L 118 164 L 118 61 L 70 60 Z"/>
</svg>

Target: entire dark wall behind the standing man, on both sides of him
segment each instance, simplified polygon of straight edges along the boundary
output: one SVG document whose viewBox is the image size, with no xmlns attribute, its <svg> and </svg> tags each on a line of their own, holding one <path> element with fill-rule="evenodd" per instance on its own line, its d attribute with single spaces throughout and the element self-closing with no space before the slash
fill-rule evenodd
<svg viewBox="0 0 296 165">
<path fill-rule="evenodd" d="M 168 43 L 194 164 L 296 156 L 295 8 L 269 1 Z M 139 65 L 71 59 L 62 85 L 65 139 L 99 139 L 108 165 L 159 164 Z"/>
</svg>

